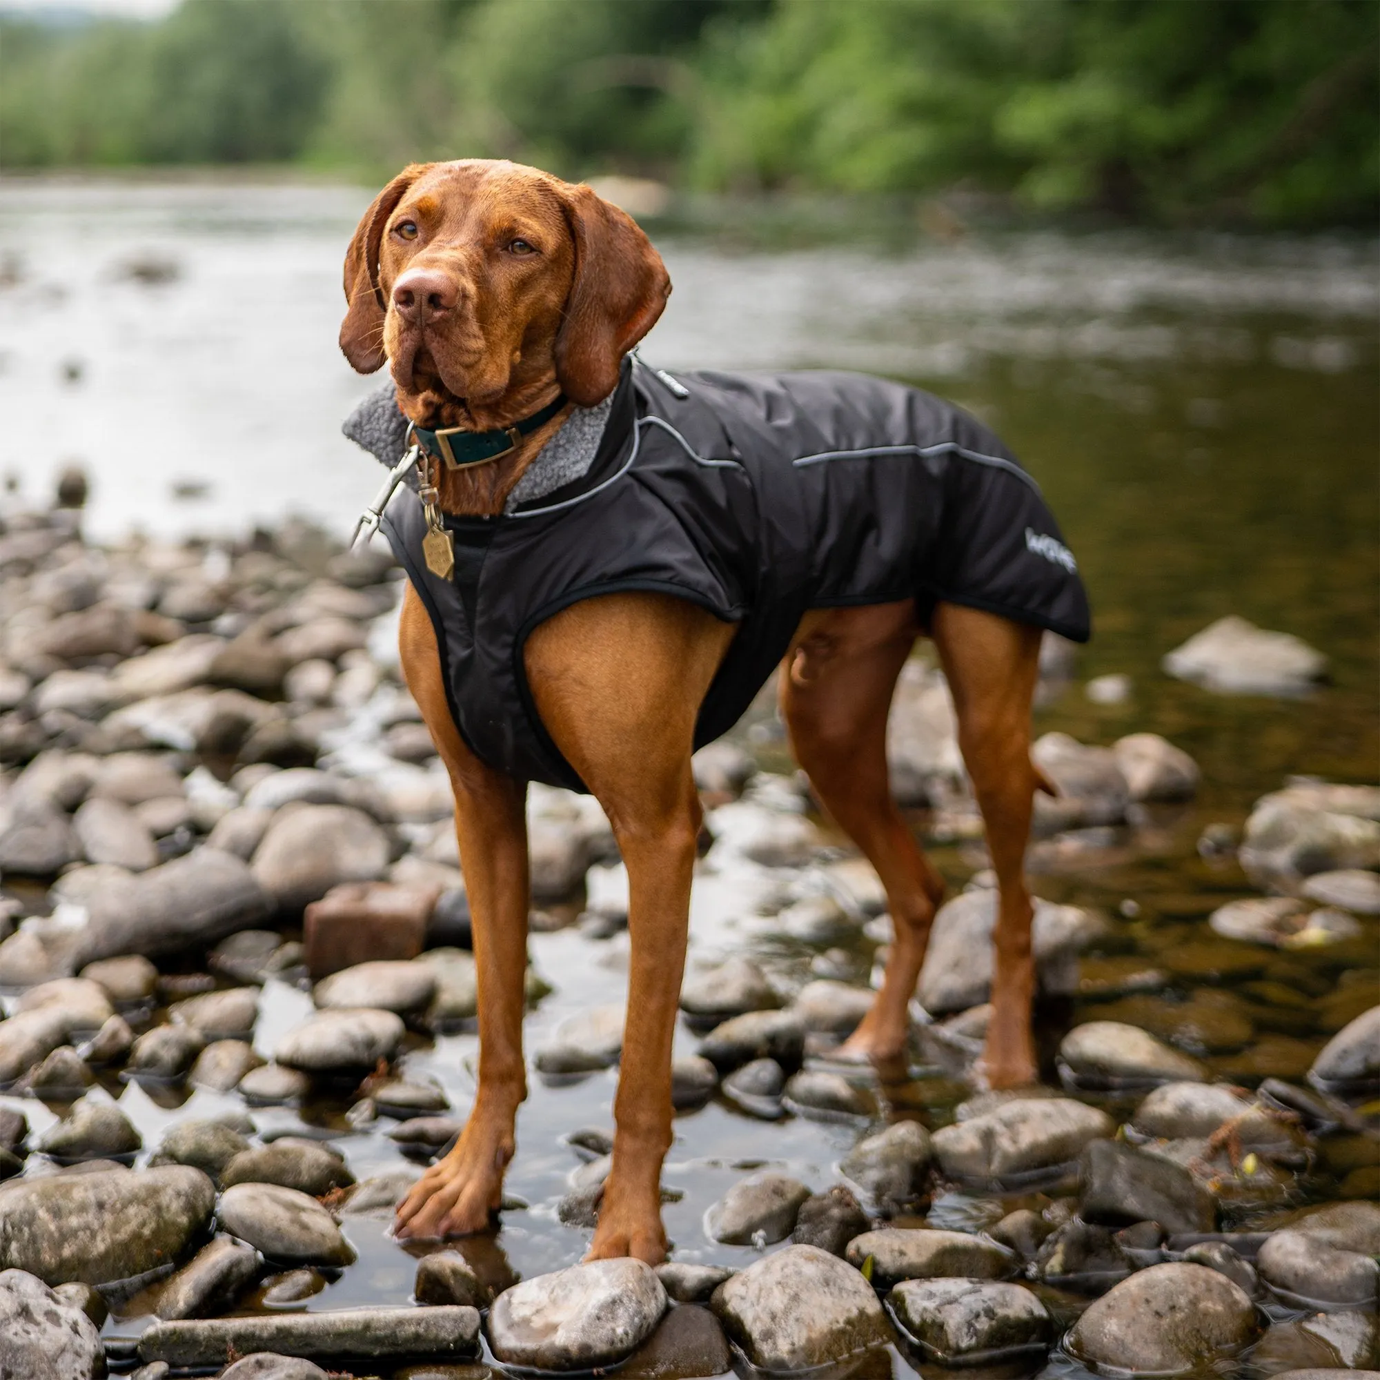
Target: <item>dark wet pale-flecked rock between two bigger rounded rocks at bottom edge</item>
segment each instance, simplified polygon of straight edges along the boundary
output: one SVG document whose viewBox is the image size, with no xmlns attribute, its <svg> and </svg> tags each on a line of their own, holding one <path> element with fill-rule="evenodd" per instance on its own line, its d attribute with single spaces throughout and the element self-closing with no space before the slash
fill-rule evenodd
<svg viewBox="0 0 1380 1380">
<path fill-rule="evenodd" d="M 1045 1305 L 1020 1285 L 908 1279 L 891 1290 L 887 1301 L 925 1358 L 941 1365 L 1042 1354 L 1054 1332 Z"/>
</svg>

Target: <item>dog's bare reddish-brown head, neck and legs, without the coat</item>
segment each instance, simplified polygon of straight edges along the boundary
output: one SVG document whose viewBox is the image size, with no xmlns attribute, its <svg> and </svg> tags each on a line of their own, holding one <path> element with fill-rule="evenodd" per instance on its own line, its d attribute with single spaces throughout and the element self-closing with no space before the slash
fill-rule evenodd
<svg viewBox="0 0 1380 1380">
<path fill-rule="evenodd" d="M 661 315 L 669 280 L 638 226 L 586 186 L 511 163 L 408 167 L 366 213 L 345 259 L 341 348 L 362 373 L 388 363 L 418 426 L 489 431 L 556 402 L 592 406 Z M 569 413 L 489 464 L 442 475 L 447 513 L 494 515 Z M 440 466 L 437 466 L 440 468 Z M 1029 531 L 1027 529 L 1027 537 Z M 994 1087 L 1035 1078 L 1031 900 L 1023 858 L 1039 778 L 1029 760 L 1039 631 L 940 602 L 920 627 L 914 599 L 811 609 L 782 664 L 781 711 L 818 799 L 876 868 L 896 929 L 885 981 L 845 1054 L 889 1060 L 908 1038 L 908 1002 L 944 886 L 889 789 L 886 720 L 920 633 L 938 647 L 959 741 L 1000 887 Z M 671 1145 L 671 1047 L 686 949 L 700 803 L 696 718 L 734 625 L 661 592 L 582 599 L 526 642 L 523 664 L 551 741 L 607 811 L 631 882 L 632 958 L 613 1172 L 591 1259 L 656 1263 L 667 1241 L 661 1162 Z M 411 585 L 403 671 L 446 763 L 473 915 L 479 1089 L 454 1150 L 397 1210 L 403 1236 L 484 1230 L 498 1209 L 526 1096 L 522 1049 L 529 875 L 526 781 L 472 752 L 451 715 L 436 633 Z"/>
</svg>

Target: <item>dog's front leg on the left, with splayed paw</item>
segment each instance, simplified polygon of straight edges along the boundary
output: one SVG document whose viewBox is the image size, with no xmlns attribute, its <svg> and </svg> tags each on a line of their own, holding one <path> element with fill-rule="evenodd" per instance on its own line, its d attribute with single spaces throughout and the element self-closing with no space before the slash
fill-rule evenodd
<svg viewBox="0 0 1380 1380">
<path fill-rule="evenodd" d="M 399 1236 L 455 1236 L 489 1227 L 513 1155 L 513 1122 L 527 1096 L 522 1053 L 527 969 L 524 782 L 477 762 L 450 718 L 431 621 L 408 588 L 400 625 L 403 673 L 455 792 L 455 832 L 475 934 L 479 1087 L 454 1148 L 397 1209 Z"/>
</svg>

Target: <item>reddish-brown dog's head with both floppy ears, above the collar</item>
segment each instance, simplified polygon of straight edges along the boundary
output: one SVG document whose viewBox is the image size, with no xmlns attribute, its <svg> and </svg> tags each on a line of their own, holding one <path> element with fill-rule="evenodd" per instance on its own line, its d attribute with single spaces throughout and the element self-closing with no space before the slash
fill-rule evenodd
<svg viewBox="0 0 1380 1380">
<path fill-rule="evenodd" d="M 341 349 L 362 374 L 388 363 L 414 421 L 501 417 L 552 381 L 591 407 L 669 293 L 647 236 L 588 186 L 487 159 L 414 163 L 345 254 Z"/>
</svg>

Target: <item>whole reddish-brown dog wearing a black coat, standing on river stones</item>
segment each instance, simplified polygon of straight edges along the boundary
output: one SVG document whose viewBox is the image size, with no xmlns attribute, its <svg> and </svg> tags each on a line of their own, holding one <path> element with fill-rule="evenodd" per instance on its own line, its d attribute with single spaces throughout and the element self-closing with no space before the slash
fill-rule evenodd
<svg viewBox="0 0 1380 1380">
<path fill-rule="evenodd" d="M 999 442 L 929 395 L 853 375 L 671 378 L 633 363 L 629 351 L 669 290 L 627 215 L 586 186 L 504 161 L 406 168 L 368 208 L 345 259 L 341 348 L 360 373 L 388 364 L 421 444 L 420 498 L 399 494 L 391 509 L 411 515 L 391 530 L 408 573 L 402 664 L 454 787 L 479 978 L 475 1105 L 451 1152 L 399 1206 L 402 1236 L 482 1231 L 501 1201 L 526 1096 L 524 799 L 540 773 L 596 796 L 631 885 L 613 1170 L 589 1259 L 664 1257 L 660 1176 L 701 822 L 690 756 L 765 682 L 762 649 L 781 665 L 796 759 L 876 868 L 894 923 L 880 991 L 840 1056 L 904 1053 L 944 893 L 891 799 L 886 760 L 893 687 L 927 633 L 999 882 L 983 1068 L 994 1087 L 1036 1075 L 1023 878 L 1042 784 L 1029 759 L 1031 696 L 1041 627 L 1086 635 L 1072 558 Z M 596 435 L 603 426 L 598 453 L 573 477 L 534 489 L 577 422 Z M 905 435 L 876 440 L 883 422 Z M 926 431 L 940 425 L 943 435 Z M 886 491 L 864 493 L 868 484 Z M 1023 610 L 1018 593 L 998 588 L 1007 577 L 989 559 L 984 523 L 1002 504 L 1016 505 L 1002 562 L 1064 581 L 1071 617 Z M 846 509 L 846 538 L 831 537 L 829 505 Z M 682 577 L 662 569 L 667 552 L 698 544 L 711 552 L 705 569 L 716 567 L 729 529 L 741 570 L 711 575 L 736 593 L 705 593 L 702 573 L 686 574 L 682 592 Z M 780 537 L 788 529 L 795 545 Z M 589 540 L 577 540 L 585 530 Z M 905 545 L 911 531 L 925 534 L 923 551 Z M 901 575 L 860 591 L 856 571 L 889 541 L 905 549 Z M 595 578 L 609 562 L 618 578 Z M 553 584 L 556 566 L 574 574 Z M 952 575 L 960 567 L 963 580 Z M 531 586 L 523 609 L 542 611 L 515 631 L 505 600 L 519 599 L 519 585 Z M 502 702 L 479 704 L 480 683 Z M 553 766 L 524 765 L 538 760 Z"/>
</svg>

